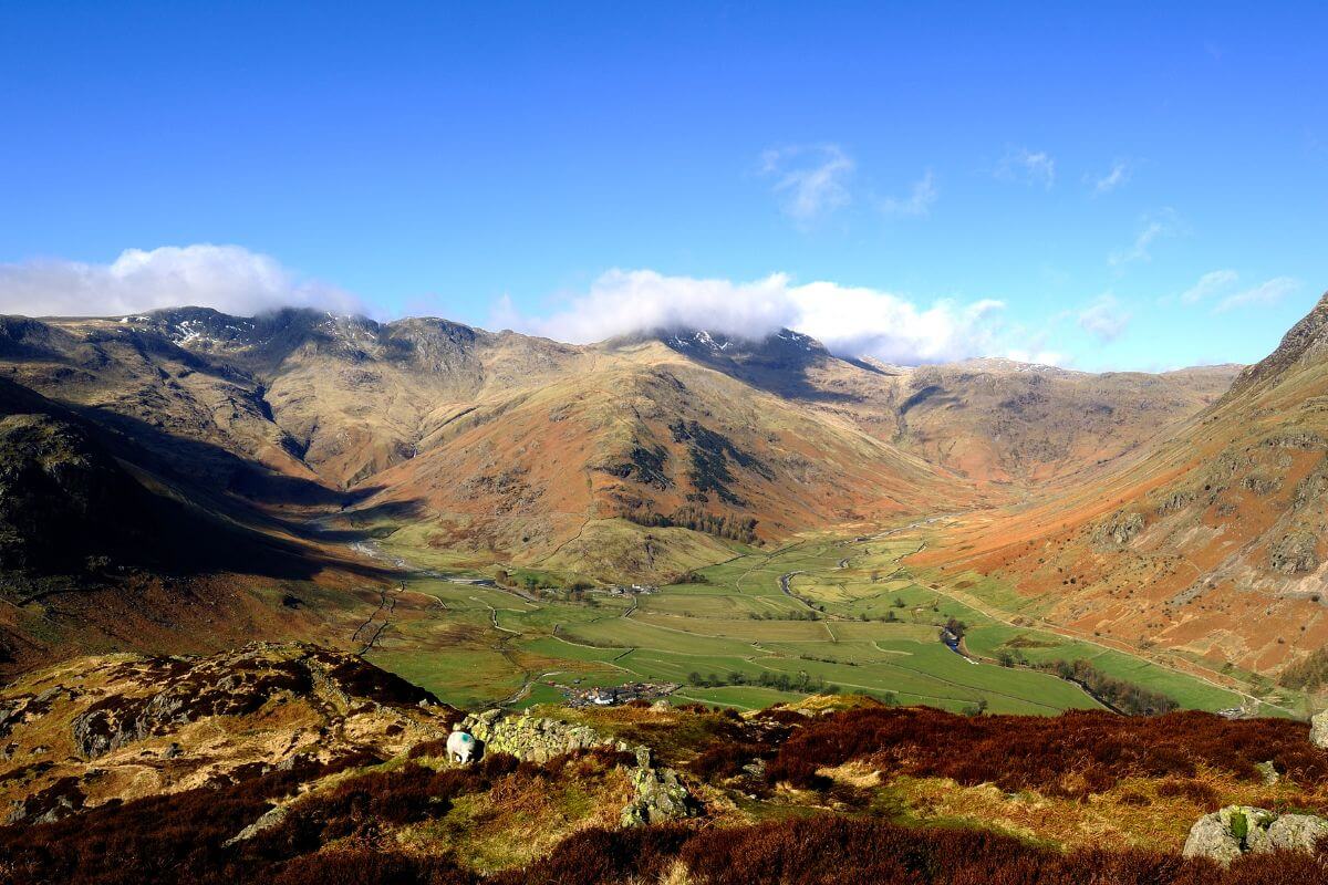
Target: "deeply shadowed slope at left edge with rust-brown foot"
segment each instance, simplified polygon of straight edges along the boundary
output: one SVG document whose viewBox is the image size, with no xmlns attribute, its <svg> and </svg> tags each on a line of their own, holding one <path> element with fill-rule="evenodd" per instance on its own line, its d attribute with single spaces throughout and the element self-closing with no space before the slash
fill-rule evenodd
<svg viewBox="0 0 1328 885">
<path fill-rule="evenodd" d="M 367 575 L 0 378 L 0 674 L 88 649 L 321 636 L 328 616 L 282 605 L 271 588 L 329 568 Z"/>
</svg>

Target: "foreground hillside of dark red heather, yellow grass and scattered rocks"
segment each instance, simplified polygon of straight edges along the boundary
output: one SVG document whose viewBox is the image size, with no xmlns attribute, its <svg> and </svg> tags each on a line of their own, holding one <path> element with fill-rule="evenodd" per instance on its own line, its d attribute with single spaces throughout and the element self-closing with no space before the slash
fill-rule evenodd
<svg viewBox="0 0 1328 885">
<path fill-rule="evenodd" d="M 1252 815 L 1278 816 L 1260 807 L 1328 803 L 1304 723 L 960 716 L 853 697 L 745 715 L 643 702 L 461 716 L 313 646 L 35 673 L 0 690 L 12 799 L 0 873 L 16 885 L 785 885 L 845 870 L 1068 885 L 1086 868 L 1121 885 L 1328 881 L 1309 851 L 1319 829 L 1280 833 L 1282 851 L 1251 836 L 1243 852 L 1242 833 L 1218 860 L 1191 857 L 1187 840 L 1212 808 L 1247 808 L 1254 833 L 1267 821 Z M 458 719 L 482 740 L 465 766 L 445 751 Z"/>
</svg>

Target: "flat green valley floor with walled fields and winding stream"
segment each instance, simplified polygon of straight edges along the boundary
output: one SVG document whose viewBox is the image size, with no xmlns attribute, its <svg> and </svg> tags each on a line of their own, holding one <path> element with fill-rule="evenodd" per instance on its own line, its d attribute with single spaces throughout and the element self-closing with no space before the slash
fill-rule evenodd
<svg viewBox="0 0 1328 885">
<path fill-rule="evenodd" d="M 703 582 L 659 588 L 635 598 L 586 593 L 525 593 L 410 582 L 414 600 L 371 653 L 463 707 L 554 702 L 558 686 L 667 681 L 675 701 L 762 707 L 805 690 L 861 693 L 947 710 L 1054 714 L 1101 705 L 1077 685 L 1036 665 L 1085 659 L 1102 673 L 1161 691 L 1183 707 L 1239 706 L 1240 695 L 1158 662 L 1011 626 L 1036 617 L 1024 597 L 985 579 L 967 579 L 965 600 L 935 589 L 903 559 L 919 549 L 916 533 L 849 541 L 809 536 L 772 551 L 734 548 L 722 563 L 697 569 Z M 400 549 L 400 548 L 394 548 Z M 448 561 L 434 553 L 432 561 Z M 559 572 L 526 575 L 556 584 Z M 789 593 L 781 586 L 789 577 Z M 975 602 L 976 605 L 976 602 Z M 1007 613 L 1009 617 L 1007 617 Z M 960 655 L 939 640 L 950 618 L 968 630 Z M 1000 666 L 1012 647 L 1017 666 Z M 552 683 L 552 685 L 550 685 Z M 805 690 L 799 690 L 803 686 Z"/>
</svg>

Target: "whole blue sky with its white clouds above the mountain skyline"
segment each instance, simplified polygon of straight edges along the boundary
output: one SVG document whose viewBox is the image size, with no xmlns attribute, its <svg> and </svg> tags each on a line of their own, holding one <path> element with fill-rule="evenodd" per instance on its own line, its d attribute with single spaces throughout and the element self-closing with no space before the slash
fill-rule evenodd
<svg viewBox="0 0 1328 885">
<path fill-rule="evenodd" d="M 564 5 L 0 3 L 0 309 L 1162 369 L 1328 288 L 1324 4 Z"/>
</svg>

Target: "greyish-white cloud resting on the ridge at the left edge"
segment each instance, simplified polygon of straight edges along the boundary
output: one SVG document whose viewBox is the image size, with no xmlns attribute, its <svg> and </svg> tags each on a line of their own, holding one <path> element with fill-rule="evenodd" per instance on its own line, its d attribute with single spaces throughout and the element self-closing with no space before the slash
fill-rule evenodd
<svg viewBox="0 0 1328 885">
<path fill-rule="evenodd" d="M 349 293 L 304 280 L 276 259 L 239 245 L 125 249 L 110 264 L 0 264 L 0 313 L 122 316 L 186 305 L 242 316 L 287 305 L 337 312 L 361 306 Z"/>
</svg>

